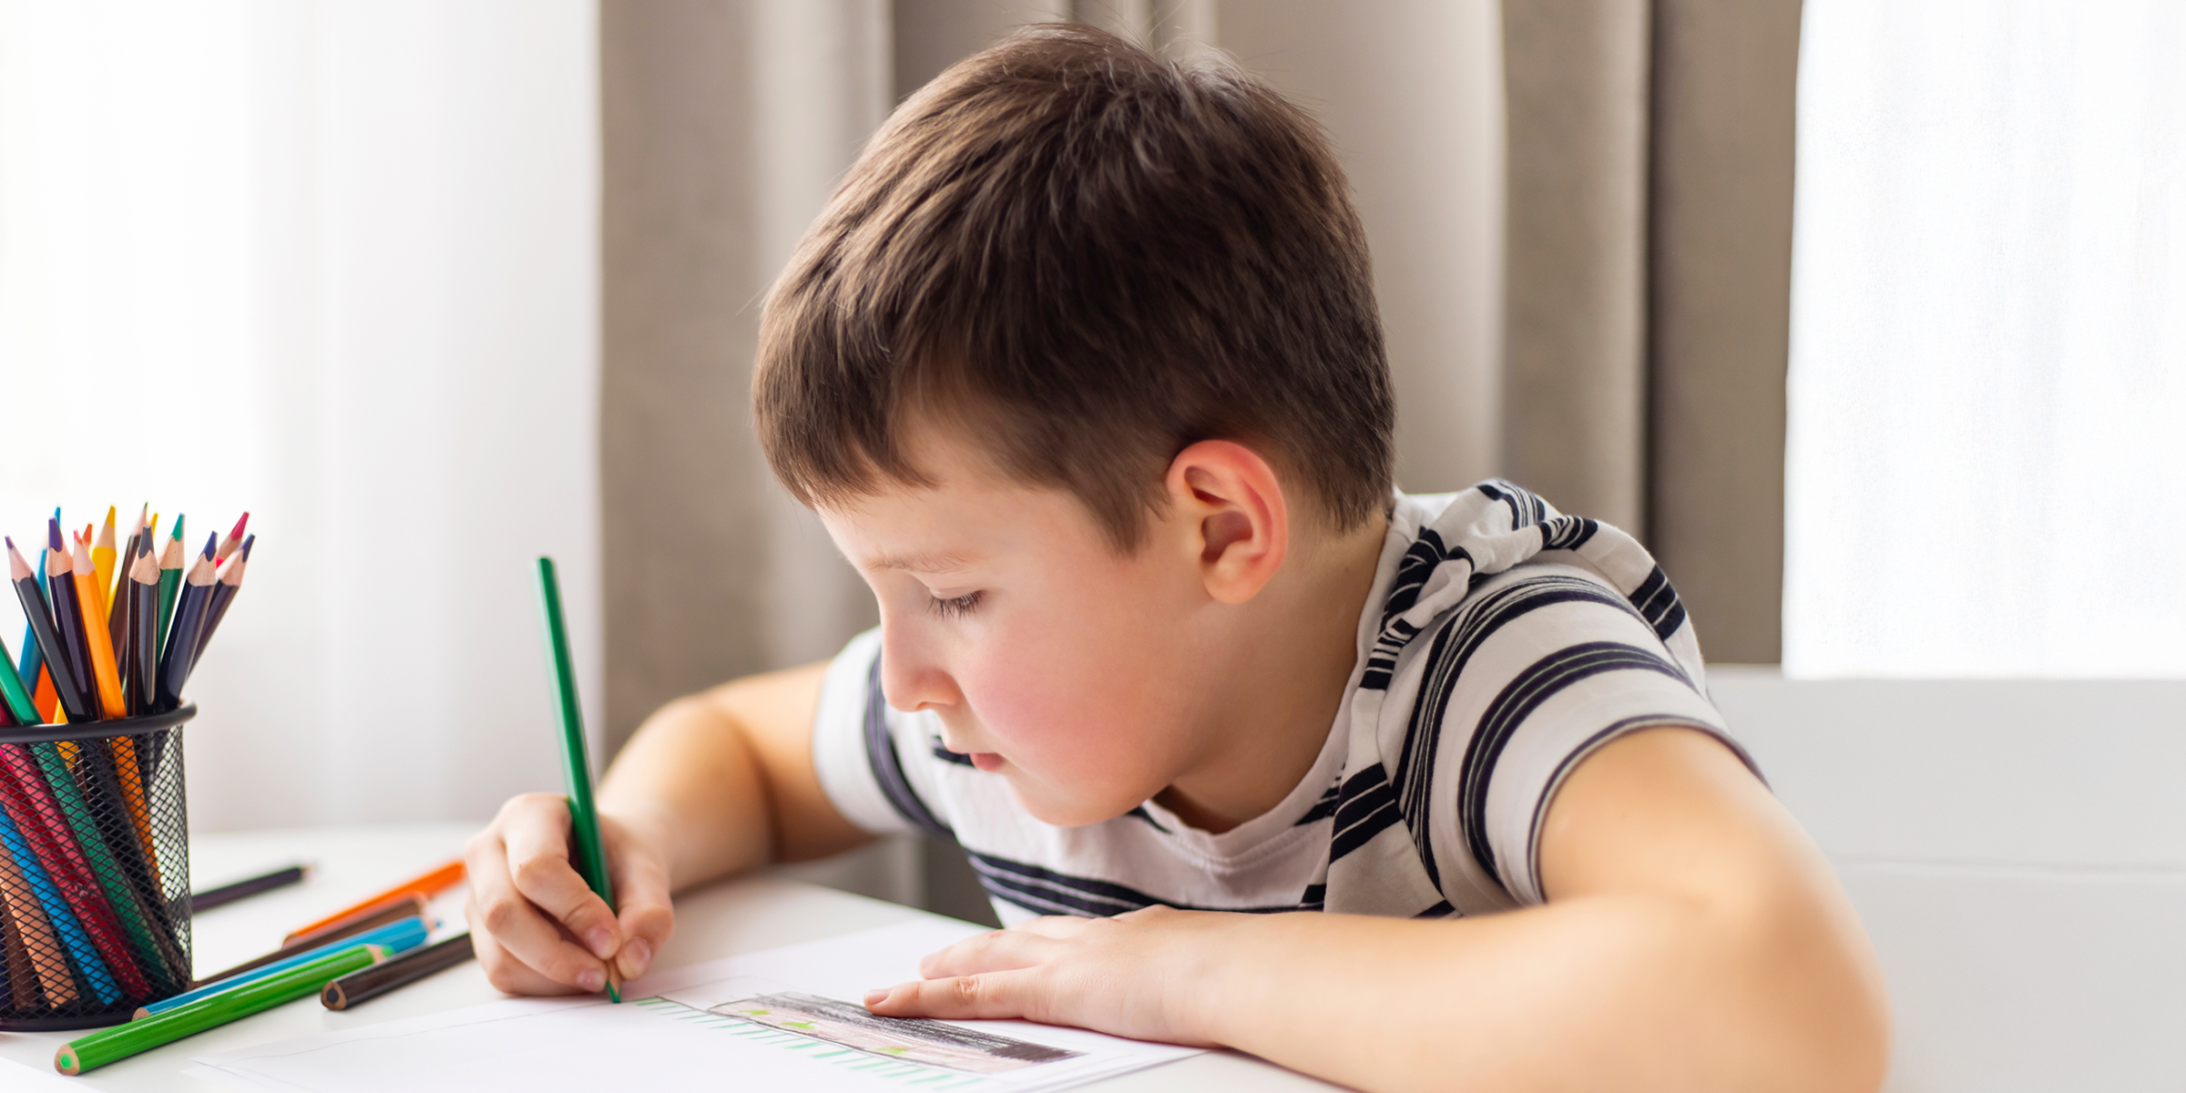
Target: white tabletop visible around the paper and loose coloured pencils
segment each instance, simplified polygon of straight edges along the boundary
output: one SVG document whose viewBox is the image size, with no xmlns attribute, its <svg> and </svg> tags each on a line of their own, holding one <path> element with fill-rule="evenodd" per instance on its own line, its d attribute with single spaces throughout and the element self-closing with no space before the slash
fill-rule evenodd
<svg viewBox="0 0 2186 1093">
<path fill-rule="evenodd" d="M 197 888 L 251 877 L 299 859 L 317 863 L 313 877 L 302 885 L 251 896 L 197 916 L 197 968 L 201 973 L 216 971 L 265 953 L 280 944 L 282 933 L 297 925 L 455 857 L 472 831 L 472 824 L 387 824 L 197 835 L 190 844 L 190 877 L 197 881 Z M 459 929 L 463 918 L 461 890 L 435 901 L 433 912 Z M 737 953 L 885 927 L 920 914 L 925 912 L 798 881 L 769 877 L 728 881 L 689 892 L 675 901 L 675 936 L 654 964 L 658 968 L 678 968 Z M 319 1006 L 315 997 L 302 999 L 157 1051 L 114 1062 L 87 1076 L 68 1078 L 66 1082 L 79 1089 L 111 1091 L 225 1091 L 230 1086 L 179 1071 L 195 1056 L 234 1051 L 315 1032 L 376 1025 L 380 1021 L 477 1006 L 501 997 L 498 990 L 485 984 L 485 973 L 479 971 L 479 964 L 472 962 L 372 999 L 356 1010 L 334 1012 Z M 72 1036 L 83 1034 L 0 1034 L 0 1060 L 52 1073 L 55 1049 Z M 22 1078 L 26 1078 L 22 1071 L 9 1073 L 0 1069 L 0 1089 L 15 1089 L 15 1082 Z M 1250 1056 L 1218 1051 L 1100 1082 L 1100 1089 L 1117 1093 L 1180 1093 L 1204 1089 L 1327 1091 L 1336 1086 Z"/>
</svg>

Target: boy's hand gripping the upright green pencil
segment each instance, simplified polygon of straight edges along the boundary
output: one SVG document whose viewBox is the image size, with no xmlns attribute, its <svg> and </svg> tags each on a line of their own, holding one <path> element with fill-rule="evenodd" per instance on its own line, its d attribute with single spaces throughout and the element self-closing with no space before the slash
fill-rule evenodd
<svg viewBox="0 0 2186 1093">
<path fill-rule="evenodd" d="M 568 802 L 557 794 L 509 798 L 463 846 L 470 868 L 470 940 L 485 979 L 509 995 L 592 992 L 636 979 L 675 929 L 660 833 L 599 813 L 621 918 L 568 861 Z"/>
</svg>

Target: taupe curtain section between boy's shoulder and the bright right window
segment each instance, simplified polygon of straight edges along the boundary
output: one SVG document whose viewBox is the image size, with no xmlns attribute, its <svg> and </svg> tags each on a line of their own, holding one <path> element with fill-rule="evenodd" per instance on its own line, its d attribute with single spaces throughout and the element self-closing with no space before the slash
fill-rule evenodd
<svg viewBox="0 0 2186 1093">
<path fill-rule="evenodd" d="M 1504 0 L 1506 472 L 1775 662 L 1799 0 Z"/>
</svg>

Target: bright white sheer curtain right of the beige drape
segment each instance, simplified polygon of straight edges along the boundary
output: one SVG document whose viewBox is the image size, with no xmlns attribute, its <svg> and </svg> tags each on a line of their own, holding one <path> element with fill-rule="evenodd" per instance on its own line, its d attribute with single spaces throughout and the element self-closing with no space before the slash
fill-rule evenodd
<svg viewBox="0 0 2186 1093">
<path fill-rule="evenodd" d="M 1784 667 L 2186 675 L 2186 7 L 1806 0 Z"/>
</svg>

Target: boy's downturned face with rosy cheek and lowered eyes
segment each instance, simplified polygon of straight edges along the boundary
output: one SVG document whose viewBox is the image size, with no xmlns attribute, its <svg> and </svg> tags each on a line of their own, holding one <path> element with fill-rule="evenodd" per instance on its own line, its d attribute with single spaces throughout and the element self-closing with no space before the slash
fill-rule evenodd
<svg viewBox="0 0 2186 1093">
<path fill-rule="evenodd" d="M 1222 647 L 1196 540 L 1154 518 L 1119 557 L 1078 498 L 931 431 L 916 455 L 936 487 L 820 509 L 881 603 L 888 704 L 933 710 L 951 752 L 1049 824 L 1108 820 L 1189 769 L 1215 702 L 1191 680 Z"/>
</svg>

